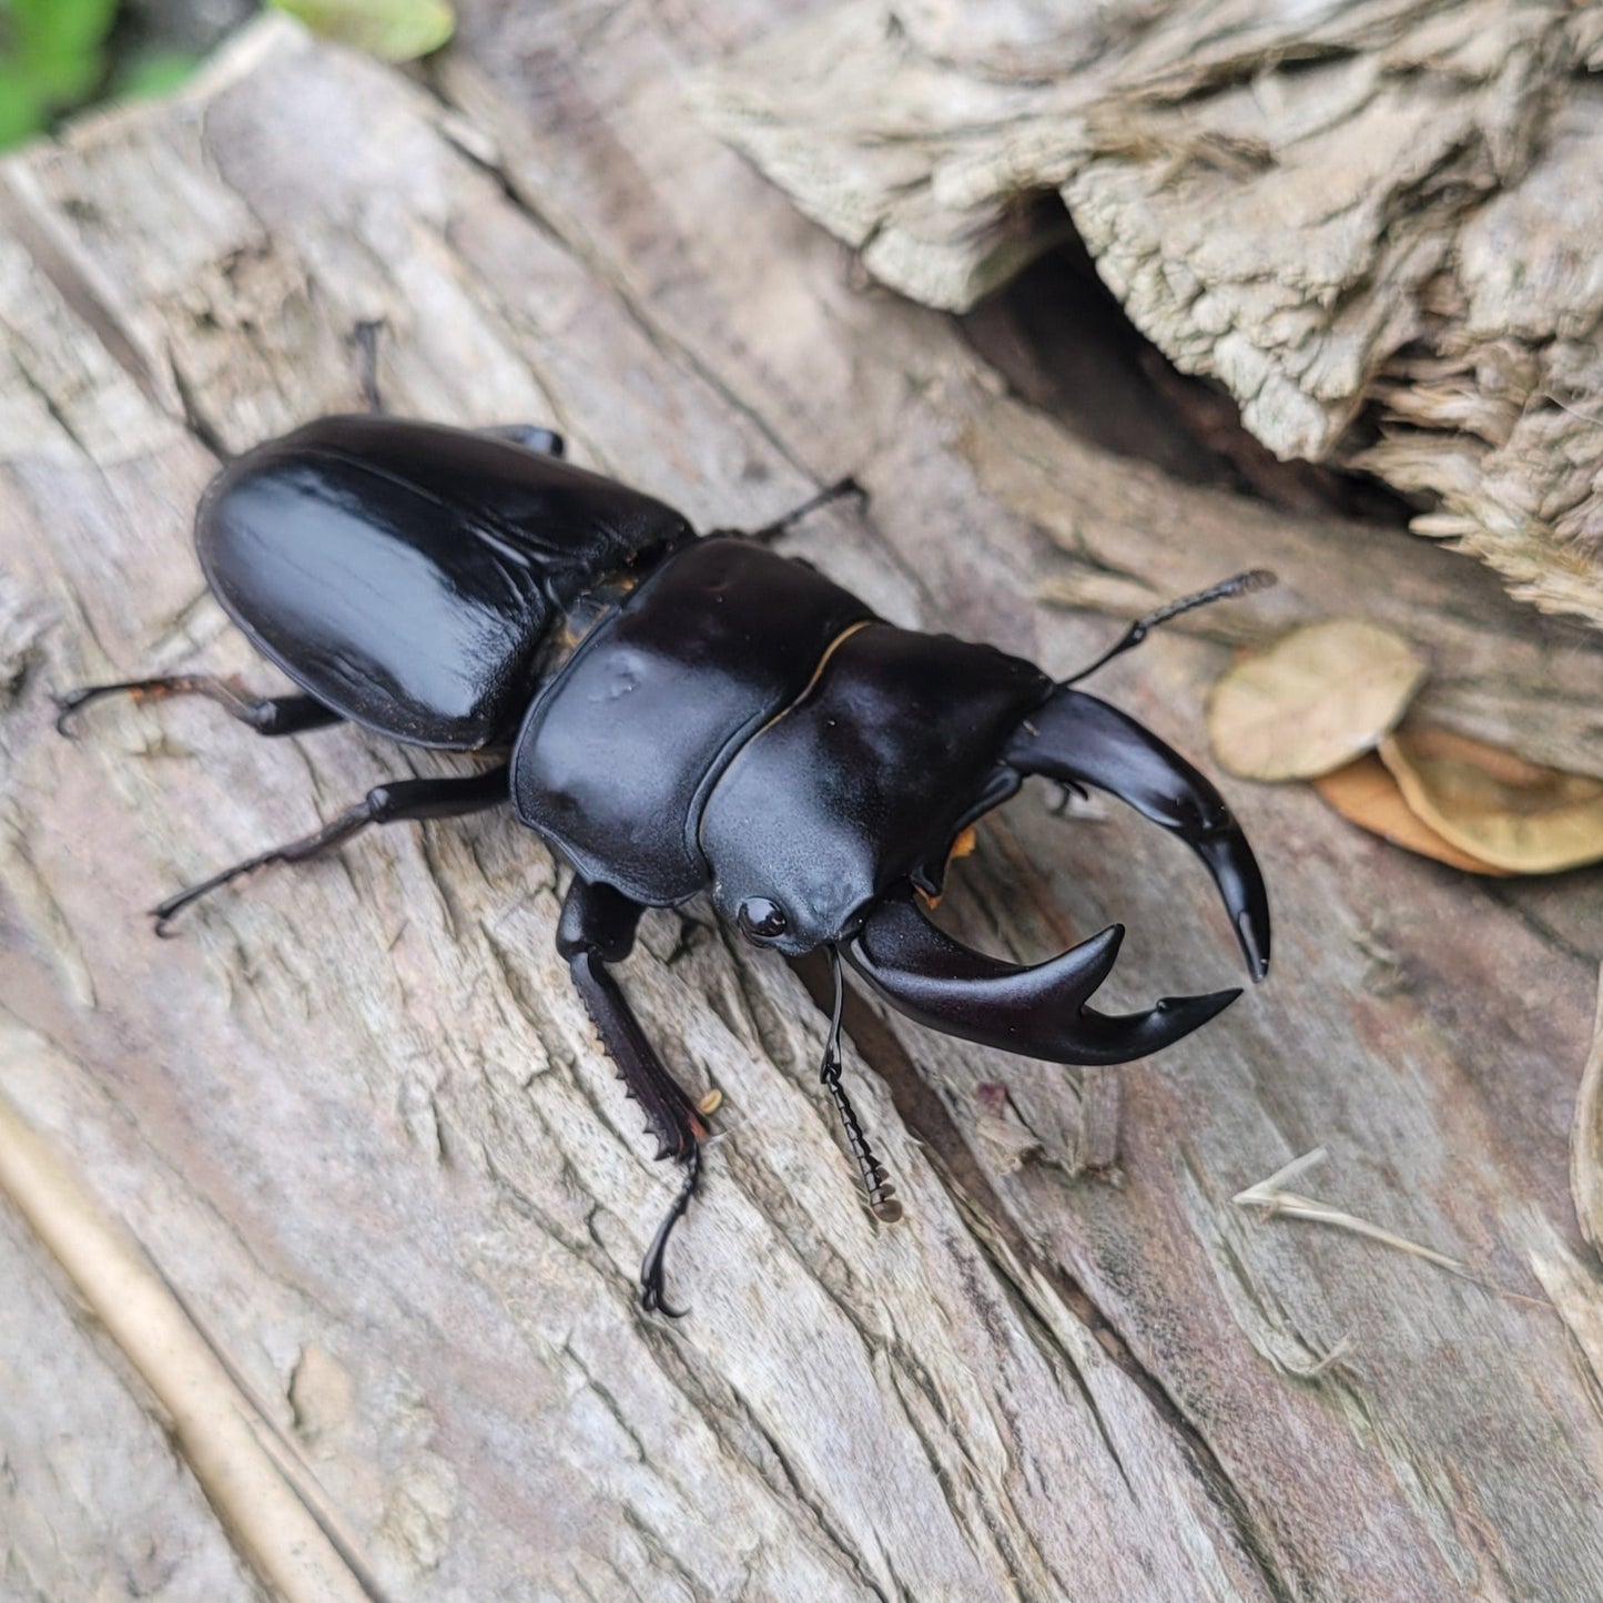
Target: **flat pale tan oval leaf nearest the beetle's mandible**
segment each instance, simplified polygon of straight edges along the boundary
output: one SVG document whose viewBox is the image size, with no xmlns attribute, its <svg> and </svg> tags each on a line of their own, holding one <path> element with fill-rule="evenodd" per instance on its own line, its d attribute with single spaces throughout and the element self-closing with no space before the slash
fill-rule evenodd
<svg viewBox="0 0 1603 1603">
<path fill-rule="evenodd" d="M 1425 659 L 1361 619 L 1294 630 L 1213 686 L 1209 736 L 1242 779 L 1313 779 L 1371 750 L 1403 717 Z"/>
</svg>

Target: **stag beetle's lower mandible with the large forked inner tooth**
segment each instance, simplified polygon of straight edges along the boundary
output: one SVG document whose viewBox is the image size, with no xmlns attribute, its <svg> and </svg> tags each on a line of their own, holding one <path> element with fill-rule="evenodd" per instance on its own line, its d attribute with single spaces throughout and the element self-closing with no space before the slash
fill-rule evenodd
<svg viewBox="0 0 1603 1603">
<path fill-rule="evenodd" d="M 1239 991 L 1164 997 L 1146 1013 L 1098 1013 L 1085 999 L 1108 978 L 1122 925 L 1032 968 L 970 951 L 912 899 L 880 902 L 843 947 L 846 960 L 909 1018 L 947 1036 L 1052 1063 L 1130 1063 L 1173 1045 Z"/>
</svg>

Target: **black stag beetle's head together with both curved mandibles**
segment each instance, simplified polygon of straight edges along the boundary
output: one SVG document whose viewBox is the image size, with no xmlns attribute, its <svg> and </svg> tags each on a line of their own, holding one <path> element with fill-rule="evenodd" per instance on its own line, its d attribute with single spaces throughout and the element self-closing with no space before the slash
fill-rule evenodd
<svg viewBox="0 0 1603 1603">
<path fill-rule="evenodd" d="M 837 649 L 838 648 L 838 649 Z M 1060 1063 L 1124 1063 L 1189 1034 L 1238 991 L 1109 1018 L 1087 999 L 1109 927 L 1021 968 L 923 915 L 959 832 L 1026 774 L 1100 785 L 1180 835 L 1225 898 L 1254 979 L 1270 960 L 1263 877 L 1223 798 L 1135 720 L 989 646 L 854 625 L 814 684 L 739 749 L 699 816 L 718 911 L 760 946 L 842 955 L 935 1029 Z"/>
</svg>

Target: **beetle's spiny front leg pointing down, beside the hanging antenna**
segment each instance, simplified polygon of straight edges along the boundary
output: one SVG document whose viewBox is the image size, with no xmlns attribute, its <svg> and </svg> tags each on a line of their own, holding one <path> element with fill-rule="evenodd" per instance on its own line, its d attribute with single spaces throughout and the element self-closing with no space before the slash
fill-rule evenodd
<svg viewBox="0 0 1603 1603">
<path fill-rule="evenodd" d="M 635 946 L 644 909 L 611 885 L 592 885 L 574 875 L 556 928 L 556 951 L 567 959 L 574 986 L 601 1044 L 617 1064 L 617 1077 L 646 1109 L 646 1129 L 657 1138 L 657 1159 L 672 1157 L 684 1170 L 678 1196 L 646 1249 L 640 1266 L 640 1300 L 648 1313 L 676 1319 L 683 1310 L 664 1300 L 664 1254 L 673 1226 L 684 1217 L 701 1180 L 701 1143 L 710 1133 L 678 1080 L 662 1066 L 624 992 L 608 970 Z"/>
</svg>

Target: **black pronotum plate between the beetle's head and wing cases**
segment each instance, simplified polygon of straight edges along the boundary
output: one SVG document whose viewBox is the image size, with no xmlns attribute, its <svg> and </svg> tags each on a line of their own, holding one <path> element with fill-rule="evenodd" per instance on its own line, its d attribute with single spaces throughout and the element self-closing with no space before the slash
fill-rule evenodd
<svg viewBox="0 0 1603 1603">
<path fill-rule="evenodd" d="M 513 753 L 518 816 L 635 901 L 692 896 L 707 883 L 707 790 L 872 617 L 802 563 L 697 540 L 592 630 L 529 710 Z"/>
</svg>

